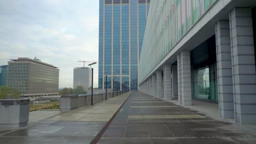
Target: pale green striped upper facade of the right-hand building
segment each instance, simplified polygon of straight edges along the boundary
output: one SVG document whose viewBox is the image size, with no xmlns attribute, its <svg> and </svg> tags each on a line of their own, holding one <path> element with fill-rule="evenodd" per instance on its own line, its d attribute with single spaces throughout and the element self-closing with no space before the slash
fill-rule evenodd
<svg viewBox="0 0 256 144">
<path fill-rule="evenodd" d="M 152 0 L 139 61 L 139 83 L 217 0 Z"/>
</svg>

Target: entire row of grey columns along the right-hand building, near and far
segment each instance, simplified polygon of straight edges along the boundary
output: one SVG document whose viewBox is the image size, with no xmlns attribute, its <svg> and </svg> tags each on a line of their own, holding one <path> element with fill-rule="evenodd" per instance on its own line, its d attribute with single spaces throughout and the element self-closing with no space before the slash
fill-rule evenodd
<svg viewBox="0 0 256 144">
<path fill-rule="evenodd" d="M 216 23 L 219 116 L 241 124 L 256 123 L 256 71 L 251 8 L 236 8 Z M 163 75 L 163 80 L 162 80 Z M 145 84 L 149 83 L 149 85 Z M 147 88 L 144 88 L 144 87 Z M 142 88 L 141 88 L 142 87 Z M 191 105 L 190 51 L 177 55 L 141 84 L 144 93 Z"/>
</svg>

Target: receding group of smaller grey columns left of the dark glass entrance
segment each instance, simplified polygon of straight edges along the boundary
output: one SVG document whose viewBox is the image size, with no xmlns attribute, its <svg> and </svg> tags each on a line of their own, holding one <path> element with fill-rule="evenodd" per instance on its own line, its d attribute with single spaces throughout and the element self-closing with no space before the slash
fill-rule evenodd
<svg viewBox="0 0 256 144">
<path fill-rule="evenodd" d="M 156 71 L 139 89 L 165 100 L 178 98 L 181 105 L 191 105 L 190 71 L 190 51 L 182 51 L 177 56 L 177 65 L 165 64 L 163 70 Z"/>
</svg>

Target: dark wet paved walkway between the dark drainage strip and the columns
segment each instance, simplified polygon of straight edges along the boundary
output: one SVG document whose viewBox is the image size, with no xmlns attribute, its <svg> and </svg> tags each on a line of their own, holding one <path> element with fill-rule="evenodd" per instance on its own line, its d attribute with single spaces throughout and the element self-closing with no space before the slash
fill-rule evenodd
<svg viewBox="0 0 256 144">
<path fill-rule="evenodd" d="M 133 92 L 98 143 L 256 143 L 243 125 Z"/>
</svg>

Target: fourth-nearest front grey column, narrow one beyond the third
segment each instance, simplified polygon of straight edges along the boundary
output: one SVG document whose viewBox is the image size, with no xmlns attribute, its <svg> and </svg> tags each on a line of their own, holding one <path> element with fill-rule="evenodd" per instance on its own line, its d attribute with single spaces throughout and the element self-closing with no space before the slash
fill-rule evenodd
<svg viewBox="0 0 256 144">
<path fill-rule="evenodd" d="M 164 93 L 165 99 L 172 99 L 171 64 L 164 65 Z"/>
</svg>

